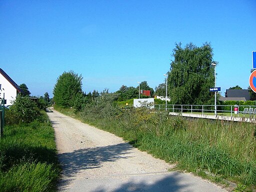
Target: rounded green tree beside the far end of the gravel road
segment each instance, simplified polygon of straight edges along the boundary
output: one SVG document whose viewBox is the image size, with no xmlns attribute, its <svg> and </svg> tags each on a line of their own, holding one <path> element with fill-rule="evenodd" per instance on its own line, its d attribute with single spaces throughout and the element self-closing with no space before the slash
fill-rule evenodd
<svg viewBox="0 0 256 192">
<path fill-rule="evenodd" d="M 53 100 L 57 106 L 72 107 L 77 95 L 82 94 L 82 76 L 74 71 L 63 72 L 53 88 Z"/>
</svg>

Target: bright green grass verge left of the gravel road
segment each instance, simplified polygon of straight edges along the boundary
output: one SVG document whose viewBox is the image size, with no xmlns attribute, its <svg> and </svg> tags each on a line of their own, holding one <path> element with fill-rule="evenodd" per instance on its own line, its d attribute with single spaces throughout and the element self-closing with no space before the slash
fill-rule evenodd
<svg viewBox="0 0 256 192">
<path fill-rule="evenodd" d="M 5 126 L 0 139 L 1 191 L 55 191 L 60 166 L 54 131 L 44 113 L 40 121 Z"/>
</svg>

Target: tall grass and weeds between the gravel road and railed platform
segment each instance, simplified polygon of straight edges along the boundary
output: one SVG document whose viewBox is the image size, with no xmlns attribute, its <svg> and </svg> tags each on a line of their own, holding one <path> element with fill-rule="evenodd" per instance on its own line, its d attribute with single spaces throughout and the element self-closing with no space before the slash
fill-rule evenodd
<svg viewBox="0 0 256 192">
<path fill-rule="evenodd" d="M 189 119 L 143 107 L 106 107 L 87 107 L 79 117 L 122 136 L 141 150 L 177 163 L 177 168 L 256 186 L 254 123 Z M 106 111 L 107 115 L 102 114 Z"/>
</svg>

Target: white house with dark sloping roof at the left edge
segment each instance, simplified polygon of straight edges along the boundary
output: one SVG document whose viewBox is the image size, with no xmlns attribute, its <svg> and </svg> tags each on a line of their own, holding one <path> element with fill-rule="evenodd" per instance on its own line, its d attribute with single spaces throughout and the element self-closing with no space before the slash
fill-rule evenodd
<svg viewBox="0 0 256 192">
<path fill-rule="evenodd" d="M 0 98 L 6 100 L 6 105 L 12 104 L 17 94 L 22 90 L 19 86 L 0 68 Z"/>
</svg>

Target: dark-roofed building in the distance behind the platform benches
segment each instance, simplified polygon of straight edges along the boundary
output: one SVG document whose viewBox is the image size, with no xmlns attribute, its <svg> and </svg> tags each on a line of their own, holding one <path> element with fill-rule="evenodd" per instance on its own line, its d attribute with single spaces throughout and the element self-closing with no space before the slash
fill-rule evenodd
<svg viewBox="0 0 256 192">
<path fill-rule="evenodd" d="M 221 96 L 219 100 L 250 100 L 249 91 L 247 89 L 226 89 L 225 97 Z"/>
</svg>

